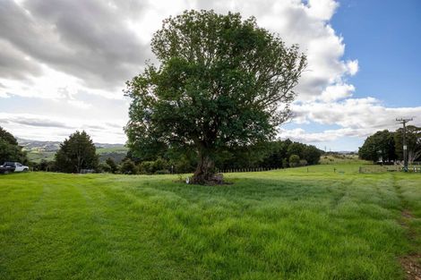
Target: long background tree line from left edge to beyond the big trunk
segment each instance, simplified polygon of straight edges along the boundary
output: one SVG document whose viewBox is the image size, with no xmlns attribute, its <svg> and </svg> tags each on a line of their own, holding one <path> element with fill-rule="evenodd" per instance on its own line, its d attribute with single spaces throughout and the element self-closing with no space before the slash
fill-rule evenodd
<svg viewBox="0 0 421 280">
<path fill-rule="evenodd" d="M 319 163 L 322 150 L 291 140 L 262 142 L 242 148 L 224 150 L 215 159 L 218 170 L 247 168 L 287 168 Z M 163 148 L 155 157 L 139 158 L 127 153 L 121 164 L 108 157 L 99 163 L 99 156 L 90 135 L 74 132 L 56 152 L 54 161 L 29 162 L 26 153 L 9 132 L 0 127 L 0 162 L 18 161 L 35 171 L 80 173 L 88 169 L 96 173 L 112 174 L 185 174 L 193 173 L 197 165 L 194 149 Z"/>
</svg>

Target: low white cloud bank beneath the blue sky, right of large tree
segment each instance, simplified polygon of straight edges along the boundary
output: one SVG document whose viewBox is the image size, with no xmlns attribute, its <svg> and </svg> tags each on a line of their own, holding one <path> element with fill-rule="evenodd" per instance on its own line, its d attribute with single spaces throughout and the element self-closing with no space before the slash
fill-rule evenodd
<svg viewBox="0 0 421 280">
<path fill-rule="evenodd" d="M 341 137 L 364 139 L 376 131 L 400 128 L 396 118 L 414 117 L 413 125 L 421 126 L 421 106 L 390 108 L 375 98 L 348 98 L 337 102 L 306 102 L 295 104 L 296 117 L 292 123 L 319 123 L 339 125 L 339 129 L 322 132 L 305 132 L 303 129 L 280 129 L 281 138 L 305 142 L 334 141 Z"/>
</svg>

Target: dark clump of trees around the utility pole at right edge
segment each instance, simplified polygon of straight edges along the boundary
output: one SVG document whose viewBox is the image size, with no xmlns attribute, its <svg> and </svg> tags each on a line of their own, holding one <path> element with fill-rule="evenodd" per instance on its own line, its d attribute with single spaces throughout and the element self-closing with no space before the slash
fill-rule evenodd
<svg viewBox="0 0 421 280">
<path fill-rule="evenodd" d="M 408 162 L 421 161 L 421 128 L 407 126 Z M 358 156 L 373 162 L 394 162 L 403 160 L 403 128 L 396 132 L 388 130 L 375 132 L 358 149 Z"/>
</svg>

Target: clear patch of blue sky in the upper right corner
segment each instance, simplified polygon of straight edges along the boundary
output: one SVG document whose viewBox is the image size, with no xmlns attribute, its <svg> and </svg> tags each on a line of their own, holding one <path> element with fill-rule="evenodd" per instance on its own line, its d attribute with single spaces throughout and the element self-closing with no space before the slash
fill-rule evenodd
<svg viewBox="0 0 421 280">
<path fill-rule="evenodd" d="M 357 57 L 349 79 L 356 97 L 385 106 L 421 105 L 421 1 L 342 0 L 331 24 L 346 44 L 344 58 Z"/>
</svg>

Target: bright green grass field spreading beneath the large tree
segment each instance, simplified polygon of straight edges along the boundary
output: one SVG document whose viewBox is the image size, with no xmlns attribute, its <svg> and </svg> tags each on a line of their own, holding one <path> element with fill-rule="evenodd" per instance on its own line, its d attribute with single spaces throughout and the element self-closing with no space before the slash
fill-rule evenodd
<svg viewBox="0 0 421 280">
<path fill-rule="evenodd" d="M 357 170 L 0 176 L 0 279 L 405 279 L 421 174 Z"/>
</svg>

